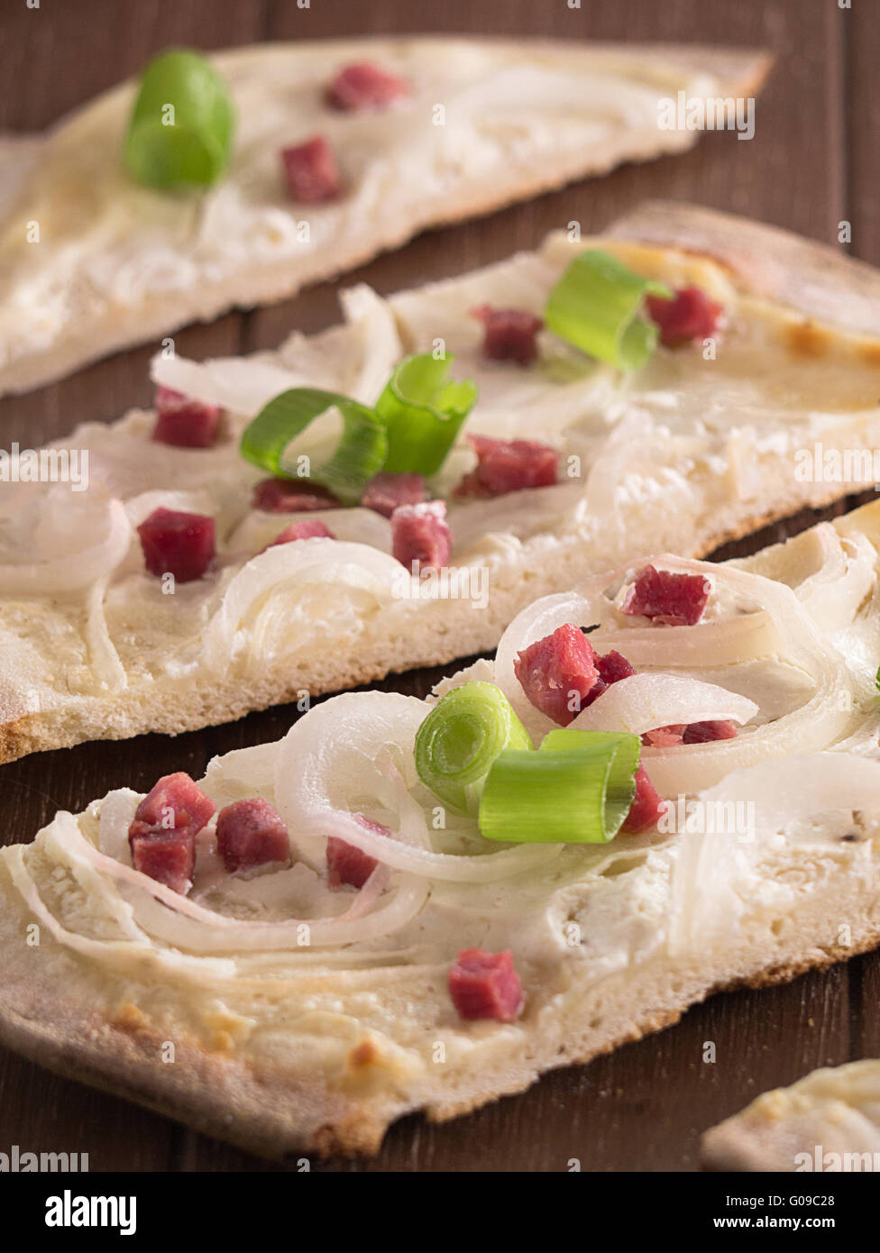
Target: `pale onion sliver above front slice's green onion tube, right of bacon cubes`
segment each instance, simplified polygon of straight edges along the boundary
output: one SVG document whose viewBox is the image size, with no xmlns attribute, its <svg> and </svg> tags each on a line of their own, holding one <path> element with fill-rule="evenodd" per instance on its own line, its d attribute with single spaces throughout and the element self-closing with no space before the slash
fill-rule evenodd
<svg viewBox="0 0 880 1253">
<path fill-rule="evenodd" d="M 575 730 L 618 730 L 641 736 L 671 723 L 727 719 L 740 724 L 758 712 L 753 700 L 682 674 L 633 674 L 605 688 L 572 722 Z"/>
</svg>

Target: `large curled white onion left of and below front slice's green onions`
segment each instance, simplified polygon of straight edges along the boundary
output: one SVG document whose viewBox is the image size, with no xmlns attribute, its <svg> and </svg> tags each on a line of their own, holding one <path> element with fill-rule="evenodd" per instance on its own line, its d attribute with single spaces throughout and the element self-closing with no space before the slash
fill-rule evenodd
<svg viewBox="0 0 880 1253">
<path fill-rule="evenodd" d="M 350 803 L 361 811 L 395 803 L 389 752 L 406 788 L 415 784 L 414 742 L 427 713 L 429 705 L 415 697 L 350 692 L 315 705 L 288 730 L 278 751 L 275 797 L 297 847 L 318 861 L 327 837 L 337 836 L 392 870 L 461 883 L 489 883 L 558 856 L 557 845 L 476 856 L 434 852 L 425 813 L 406 791 L 397 792 L 390 836 L 357 821 Z"/>
</svg>

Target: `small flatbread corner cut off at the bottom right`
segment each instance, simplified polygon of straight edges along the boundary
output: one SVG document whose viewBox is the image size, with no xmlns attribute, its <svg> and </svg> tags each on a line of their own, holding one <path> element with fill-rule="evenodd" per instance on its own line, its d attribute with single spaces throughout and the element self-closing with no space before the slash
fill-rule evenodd
<svg viewBox="0 0 880 1253">
<path fill-rule="evenodd" d="M 706 1131 L 711 1170 L 880 1170 L 880 1061 L 827 1066 Z"/>
</svg>

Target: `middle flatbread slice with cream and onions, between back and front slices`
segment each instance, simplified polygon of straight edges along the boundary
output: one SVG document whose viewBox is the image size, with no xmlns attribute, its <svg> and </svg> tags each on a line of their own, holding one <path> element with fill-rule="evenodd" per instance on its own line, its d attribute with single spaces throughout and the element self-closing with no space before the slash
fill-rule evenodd
<svg viewBox="0 0 880 1253">
<path fill-rule="evenodd" d="M 343 294 L 343 326 L 295 335 L 275 353 L 202 363 L 159 355 L 159 385 L 223 406 L 213 446 L 157 442 L 155 413 L 133 411 L 53 446 L 51 456 L 68 459 L 68 481 L 5 484 L 0 761 L 84 739 L 174 734 L 485 652 L 529 601 L 633 551 L 702 555 L 872 484 L 880 274 L 688 205 L 646 207 L 646 234 L 662 221 L 662 244 L 633 242 L 639 221 L 618 228 L 628 239 L 553 234 L 535 253 L 387 301 L 356 287 Z M 629 375 L 567 353 L 555 337 L 530 366 L 488 360 L 470 311 L 489 303 L 539 315 L 592 246 L 648 278 L 701 288 L 723 308 L 717 333 L 661 347 Z M 785 266 L 773 279 L 776 257 Z M 437 343 L 454 355 L 453 373 L 479 391 L 427 484 L 448 502 L 446 581 L 401 584 L 389 520 L 360 506 L 308 515 L 335 539 L 265 553 L 303 515 L 254 506 L 266 471 L 238 451 L 253 415 L 302 385 L 372 405 L 406 353 Z M 470 432 L 540 441 L 558 457 L 559 481 L 459 499 L 475 462 Z M 88 490 L 79 490 L 74 469 L 85 451 Z M 43 477 L 53 472 L 49 465 Z M 9 459 L 0 474 L 13 474 Z M 217 559 L 203 578 L 172 588 L 147 571 L 135 529 L 158 507 L 213 520 Z"/>
</svg>

